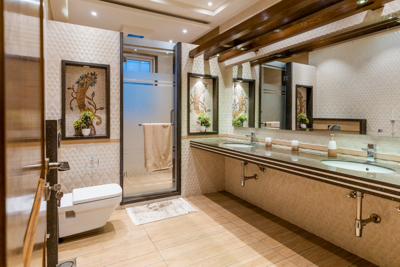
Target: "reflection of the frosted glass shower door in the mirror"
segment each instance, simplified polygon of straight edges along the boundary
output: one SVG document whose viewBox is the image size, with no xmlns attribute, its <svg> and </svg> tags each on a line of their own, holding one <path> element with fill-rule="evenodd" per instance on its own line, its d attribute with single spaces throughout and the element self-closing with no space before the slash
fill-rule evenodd
<svg viewBox="0 0 400 267">
<path fill-rule="evenodd" d="M 286 64 L 271 62 L 261 68 L 261 126 L 285 129 Z"/>
</svg>

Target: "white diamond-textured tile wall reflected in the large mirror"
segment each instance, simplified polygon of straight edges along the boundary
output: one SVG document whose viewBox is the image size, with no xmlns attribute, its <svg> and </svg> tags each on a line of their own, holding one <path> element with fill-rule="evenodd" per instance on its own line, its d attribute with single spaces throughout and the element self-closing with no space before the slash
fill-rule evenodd
<svg viewBox="0 0 400 267">
<path fill-rule="evenodd" d="M 400 30 L 392 30 L 311 52 L 314 117 L 366 119 L 368 135 L 400 136 L 400 123 L 390 122 L 400 114 L 399 42 Z"/>
</svg>

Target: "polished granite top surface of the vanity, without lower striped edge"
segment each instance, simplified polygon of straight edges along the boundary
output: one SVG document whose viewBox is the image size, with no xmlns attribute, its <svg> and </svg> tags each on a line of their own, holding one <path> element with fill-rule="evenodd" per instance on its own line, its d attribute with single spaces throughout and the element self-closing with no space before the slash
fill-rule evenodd
<svg viewBox="0 0 400 267">
<path fill-rule="evenodd" d="M 234 138 L 223 138 L 219 140 L 192 140 L 191 143 L 199 143 L 216 148 L 223 148 L 227 151 L 240 152 L 248 156 L 257 156 L 265 160 L 274 160 L 277 162 L 288 163 L 292 166 L 307 167 L 310 170 L 321 171 L 327 174 L 337 174 L 350 178 L 358 178 L 360 180 L 372 182 L 374 184 L 380 184 L 384 186 L 390 186 L 392 188 L 400 188 L 400 163 L 378 160 L 375 163 L 368 163 L 366 157 L 351 156 L 345 154 L 338 154 L 336 158 L 328 157 L 327 152 L 321 152 L 318 150 L 302 149 L 299 151 L 292 151 L 288 146 L 272 145 L 272 147 L 262 146 L 260 142 L 253 148 L 240 148 L 224 145 L 224 143 L 234 142 L 242 144 L 250 144 L 249 141 L 238 140 Z M 375 172 L 363 172 L 356 170 L 348 170 L 344 168 L 338 168 L 334 166 L 328 166 L 323 164 L 322 160 L 345 160 L 352 162 L 360 162 L 368 165 L 381 166 L 389 168 L 394 173 L 375 173 Z"/>
</svg>

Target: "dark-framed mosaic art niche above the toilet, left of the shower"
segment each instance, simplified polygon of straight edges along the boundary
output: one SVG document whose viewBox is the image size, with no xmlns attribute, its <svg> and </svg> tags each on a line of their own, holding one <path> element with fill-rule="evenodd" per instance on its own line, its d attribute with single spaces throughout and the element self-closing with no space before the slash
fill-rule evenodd
<svg viewBox="0 0 400 267">
<path fill-rule="evenodd" d="M 110 65 L 61 61 L 62 140 L 110 138 Z M 90 111 L 89 136 L 74 129 Z"/>
</svg>

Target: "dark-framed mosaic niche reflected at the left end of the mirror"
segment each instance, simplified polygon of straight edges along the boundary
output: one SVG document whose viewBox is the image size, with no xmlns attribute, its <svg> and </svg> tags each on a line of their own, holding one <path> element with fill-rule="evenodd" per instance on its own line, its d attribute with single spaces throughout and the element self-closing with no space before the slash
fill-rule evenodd
<svg viewBox="0 0 400 267">
<path fill-rule="evenodd" d="M 256 81 L 251 79 L 233 78 L 232 124 L 235 127 L 254 128 L 254 105 Z M 240 115 L 246 115 L 247 120 L 240 126 Z"/>
</svg>

